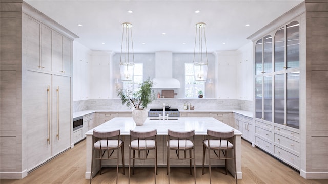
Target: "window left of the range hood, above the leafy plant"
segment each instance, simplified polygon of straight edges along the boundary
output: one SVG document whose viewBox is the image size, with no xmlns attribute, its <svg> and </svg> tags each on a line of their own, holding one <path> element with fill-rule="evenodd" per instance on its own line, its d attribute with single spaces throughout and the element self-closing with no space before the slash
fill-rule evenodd
<svg viewBox="0 0 328 184">
<path fill-rule="evenodd" d="M 142 63 L 134 63 L 133 81 L 123 83 L 123 89 L 129 91 L 129 94 L 136 93 L 139 90 L 139 84 L 143 81 Z"/>
</svg>

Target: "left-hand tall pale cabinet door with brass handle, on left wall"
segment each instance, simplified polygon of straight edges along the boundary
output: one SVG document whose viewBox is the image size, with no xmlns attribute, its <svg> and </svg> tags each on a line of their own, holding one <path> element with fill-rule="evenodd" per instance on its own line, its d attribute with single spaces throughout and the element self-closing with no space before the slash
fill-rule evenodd
<svg viewBox="0 0 328 184">
<path fill-rule="evenodd" d="M 26 112 L 28 170 L 51 157 L 51 78 L 50 74 L 27 71 L 23 109 Z"/>
</svg>

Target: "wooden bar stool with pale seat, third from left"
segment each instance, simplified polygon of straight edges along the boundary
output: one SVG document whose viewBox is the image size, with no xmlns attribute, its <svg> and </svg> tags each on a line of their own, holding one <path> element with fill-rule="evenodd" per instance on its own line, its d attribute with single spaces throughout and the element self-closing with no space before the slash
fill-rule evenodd
<svg viewBox="0 0 328 184">
<path fill-rule="evenodd" d="M 169 175 L 169 183 L 170 183 L 170 159 L 189 159 L 190 161 L 190 174 L 191 171 L 191 163 L 192 159 L 194 160 L 194 179 L 196 183 L 196 165 L 195 165 L 195 130 L 191 130 L 188 132 L 177 132 L 168 130 L 168 158 L 167 158 L 167 174 Z M 192 138 L 192 140 L 190 140 Z M 170 150 L 175 150 L 177 157 L 170 157 Z M 189 158 L 187 157 L 187 151 L 189 150 Z M 191 150 L 194 152 L 194 156 L 192 157 Z M 180 151 L 183 151 L 183 155 L 180 156 Z"/>
</svg>

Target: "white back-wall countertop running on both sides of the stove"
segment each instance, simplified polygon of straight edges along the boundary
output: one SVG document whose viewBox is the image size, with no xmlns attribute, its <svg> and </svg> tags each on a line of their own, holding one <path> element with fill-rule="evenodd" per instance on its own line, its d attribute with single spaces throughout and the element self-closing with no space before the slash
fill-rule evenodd
<svg viewBox="0 0 328 184">
<path fill-rule="evenodd" d="M 93 113 L 93 112 L 132 112 L 133 110 L 127 109 L 127 110 L 110 110 L 110 109 L 92 109 L 92 110 L 83 110 L 73 113 L 73 118 L 85 116 L 87 114 Z M 245 111 L 240 109 L 212 109 L 212 110 L 180 110 L 179 112 L 235 112 L 250 118 L 253 118 L 253 112 L 252 111 Z"/>
</svg>

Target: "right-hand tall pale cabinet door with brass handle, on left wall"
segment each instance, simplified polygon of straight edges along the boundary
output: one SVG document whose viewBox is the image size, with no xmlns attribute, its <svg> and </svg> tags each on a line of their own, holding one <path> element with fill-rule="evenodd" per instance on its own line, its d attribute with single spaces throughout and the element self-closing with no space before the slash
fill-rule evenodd
<svg viewBox="0 0 328 184">
<path fill-rule="evenodd" d="M 53 155 L 70 147 L 71 89 L 70 77 L 53 77 L 52 87 L 52 143 Z"/>
</svg>

